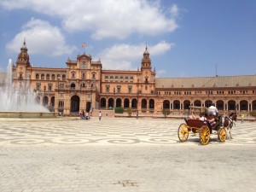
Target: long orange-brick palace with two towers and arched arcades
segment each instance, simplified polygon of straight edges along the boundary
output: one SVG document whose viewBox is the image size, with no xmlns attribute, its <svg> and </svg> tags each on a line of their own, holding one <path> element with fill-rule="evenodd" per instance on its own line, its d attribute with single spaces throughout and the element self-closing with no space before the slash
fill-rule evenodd
<svg viewBox="0 0 256 192">
<path fill-rule="evenodd" d="M 32 86 L 38 102 L 66 115 L 116 107 L 140 114 L 160 114 L 165 108 L 183 113 L 190 105 L 208 107 L 212 103 L 223 113 L 256 110 L 256 75 L 156 78 L 147 47 L 137 71 L 102 70 L 100 60 L 85 54 L 68 58 L 66 65 L 32 67 L 24 42 L 13 66 L 13 82 Z"/>
</svg>

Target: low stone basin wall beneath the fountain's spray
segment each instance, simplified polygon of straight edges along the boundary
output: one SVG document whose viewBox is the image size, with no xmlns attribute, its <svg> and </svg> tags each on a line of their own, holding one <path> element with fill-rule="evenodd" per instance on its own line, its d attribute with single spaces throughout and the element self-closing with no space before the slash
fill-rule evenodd
<svg viewBox="0 0 256 192">
<path fill-rule="evenodd" d="M 0 111 L 0 118 L 47 119 L 57 116 L 55 112 Z"/>
</svg>

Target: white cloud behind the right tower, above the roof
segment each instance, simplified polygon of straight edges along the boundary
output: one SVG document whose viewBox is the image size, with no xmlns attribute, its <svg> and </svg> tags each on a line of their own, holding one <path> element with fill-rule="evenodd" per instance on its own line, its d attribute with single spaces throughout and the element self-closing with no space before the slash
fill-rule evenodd
<svg viewBox="0 0 256 192">
<path fill-rule="evenodd" d="M 159 44 L 149 45 L 148 51 L 150 55 L 162 55 L 173 46 L 174 44 L 161 41 Z M 116 44 L 104 49 L 99 55 L 105 69 L 137 70 L 137 67 L 141 66 L 138 61 L 143 59 L 144 50 L 144 44 Z"/>
</svg>

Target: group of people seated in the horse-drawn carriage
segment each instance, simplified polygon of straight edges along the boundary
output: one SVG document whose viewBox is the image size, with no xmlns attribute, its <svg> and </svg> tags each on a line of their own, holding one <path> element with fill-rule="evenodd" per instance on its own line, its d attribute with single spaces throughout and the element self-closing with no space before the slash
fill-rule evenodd
<svg viewBox="0 0 256 192">
<path fill-rule="evenodd" d="M 207 109 L 207 113 L 200 113 L 199 118 L 196 118 L 192 113 L 189 119 L 200 119 L 204 122 L 209 122 L 209 124 L 214 127 L 216 125 L 215 118 L 218 116 L 218 109 L 214 106 L 211 106 Z"/>
</svg>

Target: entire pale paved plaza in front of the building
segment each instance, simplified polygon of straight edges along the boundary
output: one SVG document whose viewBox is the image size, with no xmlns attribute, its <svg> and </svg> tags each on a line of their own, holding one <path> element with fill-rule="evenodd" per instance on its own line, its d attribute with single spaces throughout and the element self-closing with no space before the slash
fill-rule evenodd
<svg viewBox="0 0 256 192">
<path fill-rule="evenodd" d="M 207 146 L 182 119 L 0 119 L 0 192 L 255 191 L 256 123 Z"/>
</svg>

